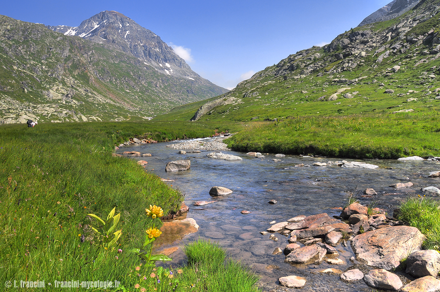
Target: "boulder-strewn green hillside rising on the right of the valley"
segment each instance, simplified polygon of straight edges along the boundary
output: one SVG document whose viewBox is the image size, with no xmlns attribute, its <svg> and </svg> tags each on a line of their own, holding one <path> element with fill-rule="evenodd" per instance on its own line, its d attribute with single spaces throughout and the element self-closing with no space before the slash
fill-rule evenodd
<svg viewBox="0 0 440 292">
<path fill-rule="evenodd" d="M 440 0 L 421 1 L 398 18 L 358 27 L 324 47 L 299 51 L 210 99 L 194 111 L 192 120 L 436 109 L 439 11 Z M 178 109 L 173 116 L 180 116 Z"/>
</svg>

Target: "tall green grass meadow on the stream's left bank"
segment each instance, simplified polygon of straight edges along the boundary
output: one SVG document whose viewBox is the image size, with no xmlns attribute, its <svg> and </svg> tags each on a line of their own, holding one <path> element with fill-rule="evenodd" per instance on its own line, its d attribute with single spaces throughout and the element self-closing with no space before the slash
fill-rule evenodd
<svg viewBox="0 0 440 292">
<path fill-rule="evenodd" d="M 136 270 L 139 258 L 129 252 L 143 244 L 151 220 L 145 208 L 156 204 L 166 215 L 180 207 L 183 197 L 136 161 L 112 157 L 115 143 L 134 136 L 159 141 L 205 137 L 214 130 L 128 122 L 0 127 L 2 285 L 14 280 L 117 280 L 121 289 L 132 291 L 152 272 Z M 122 236 L 117 246 L 105 249 L 97 244 L 90 228 L 95 219 L 87 214 L 102 218 L 115 207 L 121 214 L 116 230 Z"/>
</svg>

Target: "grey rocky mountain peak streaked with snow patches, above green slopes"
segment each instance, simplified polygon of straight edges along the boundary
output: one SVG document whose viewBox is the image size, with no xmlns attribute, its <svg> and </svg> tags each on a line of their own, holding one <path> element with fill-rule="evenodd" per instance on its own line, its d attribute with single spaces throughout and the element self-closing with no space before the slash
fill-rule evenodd
<svg viewBox="0 0 440 292">
<path fill-rule="evenodd" d="M 185 77 L 190 80 L 202 78 L 192 71 L 185 60 L 162 41 L 160 36 L 117 11 L 101 11 L 76 27 L 47 27 L 67 36 L 80 36 L 103 44 L 106 48 L 116 47 L 165 75 Z"/>
</svg>

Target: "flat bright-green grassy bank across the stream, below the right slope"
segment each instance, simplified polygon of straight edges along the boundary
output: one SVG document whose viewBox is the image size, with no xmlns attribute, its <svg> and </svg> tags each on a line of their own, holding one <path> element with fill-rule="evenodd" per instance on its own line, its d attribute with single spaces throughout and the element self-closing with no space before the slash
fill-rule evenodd
<svg viewBox="0 0 440 292">
<path fill-rule="evenodd" d="M 396 159 L 440 156 L 439 112 L 294 117 L 257 122 L 225 142 L 237 151 Z"/>
</svg>

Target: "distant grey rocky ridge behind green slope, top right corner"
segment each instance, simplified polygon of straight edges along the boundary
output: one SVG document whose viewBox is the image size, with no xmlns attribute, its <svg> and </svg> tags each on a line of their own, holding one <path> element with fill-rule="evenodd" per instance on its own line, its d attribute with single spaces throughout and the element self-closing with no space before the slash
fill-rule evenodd
<svg viewBox="0 0 440 292">
<path fill-rule="evenodd" d="M 389 4 L 368 15 L 361 23 L 359 23 L 359 26 L 396 18 L 409 11 L 419 2 L 420 0 L 393 0 Z"/>
</svg>

